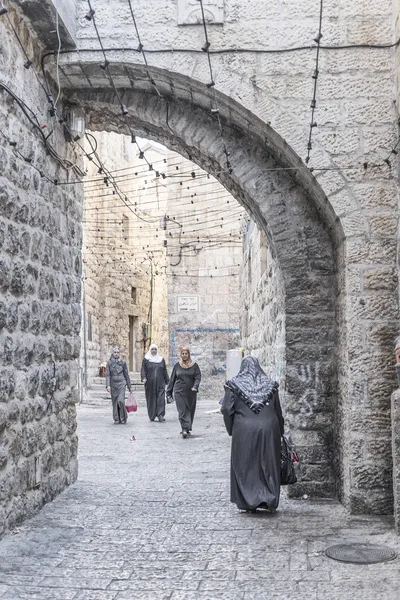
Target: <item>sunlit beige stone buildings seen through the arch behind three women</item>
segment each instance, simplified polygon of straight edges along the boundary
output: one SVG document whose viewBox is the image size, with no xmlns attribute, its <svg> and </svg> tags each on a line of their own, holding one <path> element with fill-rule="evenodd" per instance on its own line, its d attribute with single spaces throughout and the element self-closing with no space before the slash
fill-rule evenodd
<svg viewBox="0 0 400 600">
<path fill-rule="evenodd" d="M 189 345 L 202 390 L 221 395 L 226 352 L 240 344 L 246 213 L 214 178 L 162 146 L 140 140 L 150 171 L 126 136 L 102 133 L 94 141 L 107 170 L 99 174 L 87 161 L 84 385 L 116 344 L 139 371 L 152 341 L 170 367 Z"/>
</svg>

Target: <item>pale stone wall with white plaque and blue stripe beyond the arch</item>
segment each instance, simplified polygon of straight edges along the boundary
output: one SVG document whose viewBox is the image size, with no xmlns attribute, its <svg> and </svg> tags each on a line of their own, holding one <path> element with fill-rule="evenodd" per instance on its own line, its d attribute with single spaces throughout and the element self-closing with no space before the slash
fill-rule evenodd
<svg viewBox="0 0 400 600">
<path fill-rule="evenodd" d="M 220 399 L 227 350 L 241 345 L 239 266 L 246 212 L 221 184 L 175 153 L 168 162 L 168 318 L 171 366 L 189 346 L 201 396 Z M 175 173 L 174 173 L 175 171 Z M 183 183 L 183 185 L 181 185 Z M 179 225 L 176 225 L 176 222 Z"/>
</svg>

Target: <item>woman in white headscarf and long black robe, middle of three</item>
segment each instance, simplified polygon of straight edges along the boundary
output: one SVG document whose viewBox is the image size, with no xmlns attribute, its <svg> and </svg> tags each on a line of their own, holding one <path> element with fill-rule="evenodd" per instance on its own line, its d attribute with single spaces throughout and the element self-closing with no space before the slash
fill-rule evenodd
<svg viewBox="0 0 400 600">
<path fill-rule="evenodd" d="M 146 391 L 149 419 L 154 421 L 157 418 L 160 423 L 163 423 L 165 421 L 165 386 L 169 382 L 169 377 L 165 360 L 158 354 L 156 344 L 150 346 L 143 359 L 141 377 Z"/>
</svg>

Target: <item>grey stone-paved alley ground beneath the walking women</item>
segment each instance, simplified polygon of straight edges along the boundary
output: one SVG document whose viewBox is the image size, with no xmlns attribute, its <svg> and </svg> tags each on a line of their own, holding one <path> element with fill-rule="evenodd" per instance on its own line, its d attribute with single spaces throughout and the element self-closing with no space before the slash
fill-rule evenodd
<svg viewBox="0 0 400 600">
<path fill-rule="evenodd" d="M 79 407 L 79 480 L 0 542 L 0 599 L 398 600 L 400 559 L 355 566 L 323 553 L 350 541 L 400 552 L 391 520 L 285 497 L 276 515 L 230 504 L 215 408 L 200 399 L 182 440 L 174 405 L 150 423 L 140 400 L 126 426 Z"/>
</svg>

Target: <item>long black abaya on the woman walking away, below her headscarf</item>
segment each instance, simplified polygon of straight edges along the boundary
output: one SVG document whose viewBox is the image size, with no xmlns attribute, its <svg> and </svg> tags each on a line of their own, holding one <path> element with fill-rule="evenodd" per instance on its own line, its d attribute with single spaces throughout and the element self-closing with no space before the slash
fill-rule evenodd
<svg viewBox="0 0 400 600">
<path fill-rule="evenodd" d="M 277 508 L 284 433 L 278 391 L 257 414 L 238 394 L 227 389 L 221 410 L 232 436 L 231 502 L 242 510 Z"/>
</svg>

